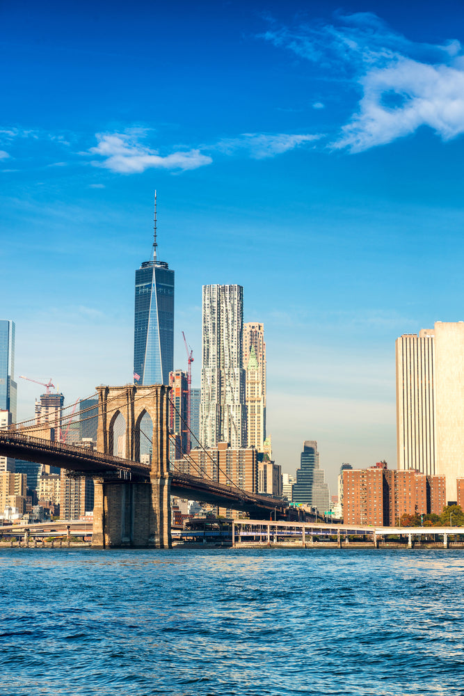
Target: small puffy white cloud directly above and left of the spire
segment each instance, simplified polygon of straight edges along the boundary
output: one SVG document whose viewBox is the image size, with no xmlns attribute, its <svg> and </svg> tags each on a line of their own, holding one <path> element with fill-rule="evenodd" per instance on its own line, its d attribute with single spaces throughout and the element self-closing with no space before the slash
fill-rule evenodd
<svg viewBox="0 0 464 696">
<path fill-rule="evenodd" d="M 138 135 L 133 132 L 97 133 L 97 141 L 98 145 L 90 148 L 89 152 L 103 159 L 92 161 L 91 164 L 121 174 L 141 173 L 149 168 L 186 171 L 212 162 L 211 157 L 203 155 L 200 150 L 181 150 L 170 155 L 159 155 L 157 150 L 141 145 Z"/>
</svg>

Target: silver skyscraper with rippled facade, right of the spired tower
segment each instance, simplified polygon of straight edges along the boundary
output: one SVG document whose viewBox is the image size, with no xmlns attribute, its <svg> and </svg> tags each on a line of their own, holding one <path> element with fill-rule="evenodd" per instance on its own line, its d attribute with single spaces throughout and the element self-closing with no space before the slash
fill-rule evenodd
<svg viewBox="0 0 464 696">
<path fill-rule="evenodd" d="M 203 285 L 200 441 L 246 446 L 243 287 Z"/>
</svg>

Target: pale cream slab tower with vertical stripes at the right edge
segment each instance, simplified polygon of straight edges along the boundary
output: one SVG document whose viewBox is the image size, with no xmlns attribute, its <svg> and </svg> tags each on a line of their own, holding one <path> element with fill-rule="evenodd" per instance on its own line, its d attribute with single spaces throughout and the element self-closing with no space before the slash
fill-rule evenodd
<svg viewBox="0 0 464 696">
<path fill-rule="evenodd" d="M 397 466 L 446 476 L 447 502 L 464 473 L 464 322 L 397 339 Z"/>
</svg>

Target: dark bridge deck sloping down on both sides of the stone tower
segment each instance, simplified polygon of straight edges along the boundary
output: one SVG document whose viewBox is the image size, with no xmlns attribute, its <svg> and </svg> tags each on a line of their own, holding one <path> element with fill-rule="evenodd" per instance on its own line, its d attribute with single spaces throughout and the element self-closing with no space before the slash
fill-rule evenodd
<svg viewBox="0 0 464 696">
<path fill-rule="evenodd" d="M 36 438 L 19 432 L 0 430 L 0 456 L 49 464 L 87 475 L 111 480 L 112 483 L 150 480 L 150 466 L 140 461 L 122 459 L 74 445 Z M 220 507 L 232 507 L 250 514 L 283 514 L 288 507 L 278 498 L 259 496 L 200 476 L 170 472 L 171 495 L 199 500 Z"/>
</svg>

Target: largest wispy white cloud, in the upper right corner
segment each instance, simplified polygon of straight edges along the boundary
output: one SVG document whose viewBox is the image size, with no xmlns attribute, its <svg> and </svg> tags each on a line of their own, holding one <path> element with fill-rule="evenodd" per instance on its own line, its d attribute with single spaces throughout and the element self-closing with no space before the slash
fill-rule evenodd
<svg viewBox="0 0 464 696">
<path fill-rule="evenodd" d="M 333 24 L 273 26 L 262 38 L 337 70 L 361 90 L 353 116 L 331 143 L 335 149 L 361 152 L 422 125 L 443 140 L 464 132 L 464 55 L 457 40 L 413 42 L 372 13 L 338 14 Z"/>
</svg>

